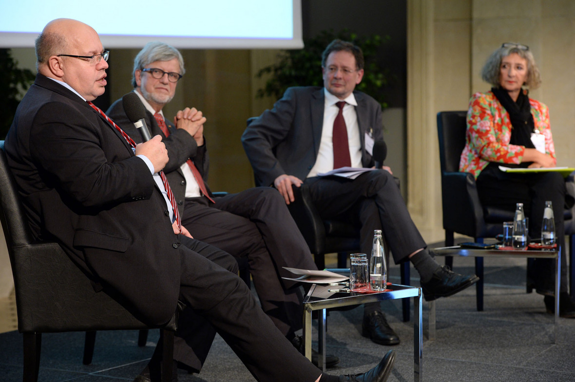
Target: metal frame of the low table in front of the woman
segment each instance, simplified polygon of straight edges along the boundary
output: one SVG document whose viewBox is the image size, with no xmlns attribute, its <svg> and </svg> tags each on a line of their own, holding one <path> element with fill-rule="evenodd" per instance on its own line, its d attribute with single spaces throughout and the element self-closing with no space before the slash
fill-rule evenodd
<svg viewBox="0 0 575 382">
<path fill-rule="evenodd" d="M 559 323 L 559 285 L 561 285 L 561 250 L 499 250 L 499 249 L 468 249 L 460 246 L 450 246 L 430 249 L 436 256 L 467 256 L 475 257 L 477 292 L 483 291 L 483 259 L 482 257 L 523 257 L 523 258 L 553 258 L 555 259 L 555 322 L 553 328 L 553 343 L 557 344 L 557 324 Z M 429 339 L 435 339 L 435 301 L 429 302 L 430 322 Z M 483 306 L 477 306 L 483 310 Z"/>
</svg>

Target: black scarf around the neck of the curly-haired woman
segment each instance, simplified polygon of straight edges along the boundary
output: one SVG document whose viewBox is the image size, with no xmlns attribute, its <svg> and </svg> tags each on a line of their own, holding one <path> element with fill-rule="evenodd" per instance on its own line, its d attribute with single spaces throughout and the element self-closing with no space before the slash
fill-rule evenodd
<svg viewBox="0 0 575 382">
<path fill-rule="evenodd" d="M 531 105 L 529 103 L 529 97 L 527 97 L 527 91 L 520 91 L 519 97 L 517 97 L 517 101 L 515 102 L 509 97 L 509 92 L 505 89 L 492 87 L 491 91 L 495 97 L 497 97 L 501 106 L 509 113 L 512 126 L 509 144 L 534 149 L 535 146 L 533 142 L 531 142 L 531 133 L 535 132 L 535 121 L 531 114 Z"/>
</svg>

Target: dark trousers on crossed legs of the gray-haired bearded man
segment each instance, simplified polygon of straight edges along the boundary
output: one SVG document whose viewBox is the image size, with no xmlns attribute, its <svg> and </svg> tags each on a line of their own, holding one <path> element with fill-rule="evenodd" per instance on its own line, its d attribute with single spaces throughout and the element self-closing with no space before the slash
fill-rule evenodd
<svg viewBox="0 0 575 382">
<path fill-rule="evenodd" d="M 283 267 L 317 269 L 283 198 L 256 187 L 216 198 L 185 201 L 183 225 L 198 240 L 236 258 L 247 257 L 262 309 L 287 336 L 302 326 L 302 293 Z"/>
</svg>

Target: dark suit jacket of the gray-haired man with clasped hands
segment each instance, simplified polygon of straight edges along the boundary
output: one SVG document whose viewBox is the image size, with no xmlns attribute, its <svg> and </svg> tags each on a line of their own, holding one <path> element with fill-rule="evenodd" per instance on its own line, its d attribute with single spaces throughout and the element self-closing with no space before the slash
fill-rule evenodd
<svg viewBox="0 0 575 382">
<path fill-rule="evenodd" d="M 120 126 L 124 132 L 126 132 L 134 141 L 136 141 L 136 143 L 140 143 L 142 141 L 140 133 L 137 132 L 136 127 L 134 124 L 132 124 L 132 122 L 129 121 L 128 116 L 124 111 L 122 99 L 118 99 L 116 102 L 114 102 L 108 111 L 106 111 L 106 115 L 112 118 L 112 121 L 116 122 L 116 124 L 118 124 L 118 126 Z M 168 129 L 170 129 L 170 136 L 167 138 L 162 132 L 162 129 L 160 129 L 160 126 L 158 126 L 158 122 L 156 121 L 156 118 L 154 118 L 154 115 L 152 115 L 150 111 L 146 110 L 145 122 L 148 126 L 148 129 L 150 130 L 151 136 L 162 136 L 162 142 L 166 144 L 166 149 L 168 151 L 168 155 L 170 156 L 170 160 L 166 164 L 166 167 L 164 167 L 164 173 L 166 173 L 168 183 L 170 183 L 170 187 L 174 192 L 180 216 L 183 216 L 186 178 L 183 176 L 183 172 L 180 166 L 188 158 L 191 158 L 191 160 L 194 161 L 198 171 L 200 171 L 200 174 L 202 175 L 205 183 L 208 179 L 209 170 L 208 151 L 206 150 L 205 141 L 203 146 L 198 147 L 194 137 L 187 133 L 186 130 L 176 129 L 172 122 L 165 118 L 164 120 L 166 121 Z M 207 183 L 206 189 L 208 190 L 208 194 L 213 196 Z"/>
</svg>

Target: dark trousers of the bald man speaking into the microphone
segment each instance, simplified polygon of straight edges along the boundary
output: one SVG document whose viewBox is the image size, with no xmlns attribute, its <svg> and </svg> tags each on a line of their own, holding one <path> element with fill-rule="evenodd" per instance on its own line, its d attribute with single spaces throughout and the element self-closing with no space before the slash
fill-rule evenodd
<svg viewBox="0 0 575 382">
<path fill-rule="evenodd" d="M 235 259 L 203 242 L 181 238 L 179 299 L 189 310 L 178 320 L 175 360 L 190 360 L 205 343 L 194 338 L 196 321 L 208 322 L 258 381 L 315 381 L 321 371 L 287 340 L 235 274 Z M 227 265 L 227 268 L 220 264 Z M 194 347 L 195 346 L 195 347 Z M 199 347 L 199 348 L 198 348 Z M 187 358 L 186 358 L 187 357 Z"/>
</svg>

